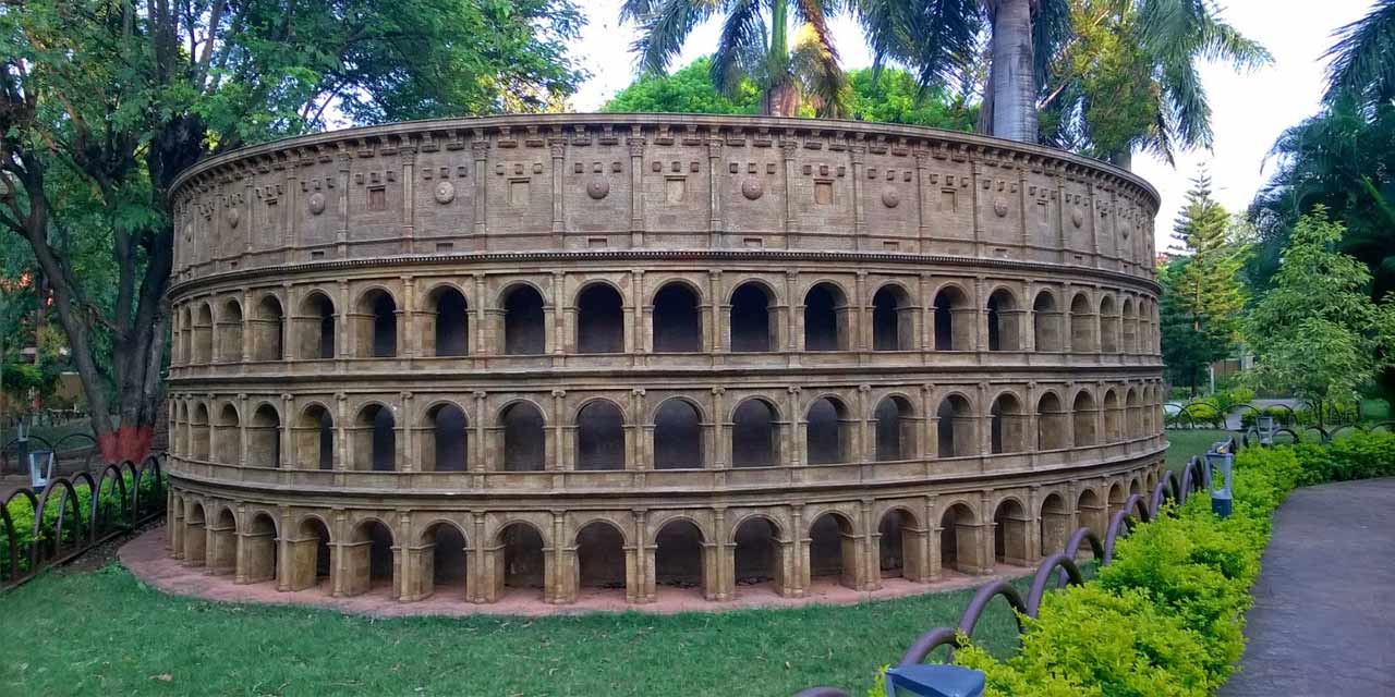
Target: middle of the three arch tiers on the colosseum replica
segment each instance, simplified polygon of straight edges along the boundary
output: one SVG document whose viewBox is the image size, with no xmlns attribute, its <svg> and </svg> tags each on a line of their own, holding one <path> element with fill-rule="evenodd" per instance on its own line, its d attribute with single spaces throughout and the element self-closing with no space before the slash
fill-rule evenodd
<svg viewBox="0 0 1395 697">
<path fill-rule="evenodd" d="M 617 399 L 624 396 L 624 399 Z M 324 400 L 174 396 L 177 457 L 350 471 L 607 471 L 889 463 L 1154 438 L 1162 386 L 555 390 L 552 401 L 400 395 Z M 283 420 L 282 413 L 293 418 Z M 250 414 L 243 420 L 241 414 Z M 488 414 L 480 418 L 480 414 Z M 716 415 L 716 417 L 714 417 Z"/>
</svg>

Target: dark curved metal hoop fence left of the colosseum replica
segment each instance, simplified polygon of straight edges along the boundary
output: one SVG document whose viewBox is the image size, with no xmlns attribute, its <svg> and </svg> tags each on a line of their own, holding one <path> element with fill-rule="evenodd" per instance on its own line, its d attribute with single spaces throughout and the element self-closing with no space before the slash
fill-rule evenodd
<svg viewBox="0 0 1395 697">
<path fill-rule="evenodd" d="M 32 441 L 32 439 L 31 439 Z M 61 442 L 61 441 L 60 441 Z M 0 505 L 0 591 L 165 514 L 165 453 L 22 487 Z"/>
</svg>

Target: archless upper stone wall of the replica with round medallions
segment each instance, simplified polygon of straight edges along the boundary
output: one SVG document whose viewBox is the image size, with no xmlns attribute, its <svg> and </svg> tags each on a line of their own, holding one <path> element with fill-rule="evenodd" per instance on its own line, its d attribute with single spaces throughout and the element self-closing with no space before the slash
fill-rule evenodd
<svg viewBox="0 0 1395 697">
<path fill-rule="evenodd" d="M 1152 277 L 1158 194 L 1049 148 L 852 121 L 451 118 L 212 158 L 174 187 L 176 282 L 332 259 L 771 248 Z"/>
</svg>

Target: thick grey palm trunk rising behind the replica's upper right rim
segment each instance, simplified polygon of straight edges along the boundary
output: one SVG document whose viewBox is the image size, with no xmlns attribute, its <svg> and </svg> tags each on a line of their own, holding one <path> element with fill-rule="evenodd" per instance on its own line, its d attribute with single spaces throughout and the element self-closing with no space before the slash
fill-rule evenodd
<svg viewBox="0 0 1395 697">
<path fill-rule="evenodd" d="M 1031 0 L 999 0 L 993 13 L 993 135 L 1036 142 L 1036 75 Z"/>
</svg>

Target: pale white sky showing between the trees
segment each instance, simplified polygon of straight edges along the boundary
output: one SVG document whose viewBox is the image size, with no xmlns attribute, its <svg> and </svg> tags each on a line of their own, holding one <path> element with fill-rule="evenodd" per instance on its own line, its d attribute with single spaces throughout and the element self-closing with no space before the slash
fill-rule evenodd
<svg viewBox="0 0 1395 697">
<path fill-rule="evenodd" d="M 590 21 L 573 43 L 573 52 L 591 78 L 573 98 L 578 112 L 594 112 L 633 79 L 635 57 L 629 43 L 635 26 L 619 24 L 619 0 L 582 1 Z M 1274 169 L 1264 160 L 1275 138 L 1318 109 L 1325 68 L 1321 56 L 1332 43 L 1332 31 L 1360 18 L 1370 4 L 1370 0 L 1232 0 L 1223 6 L 1222 17 L 1268 47 L 1274 64 L 1247 75 L 1236 75 L 1222 66 L 1202 66 L 1212 109 L 1214 152 L 1182 153 L 1176 169 L 1148 155 L 1134 158 L 1134 170 L 1162 194 L 1158 248 L 1169 244 L 1166 233 L 1182 208 L 1189 180 L 1202 164 L 1209 166 L 1216 198 L 1226 208 L 1239 212 L 1250 204 Z M 710 53 L 718 28 L 716 21 L 699 26 L 674 67 Z M 833 33 L 845 68 L 872 63 L 852 21 L 836 20 Z"/>
</svg>

